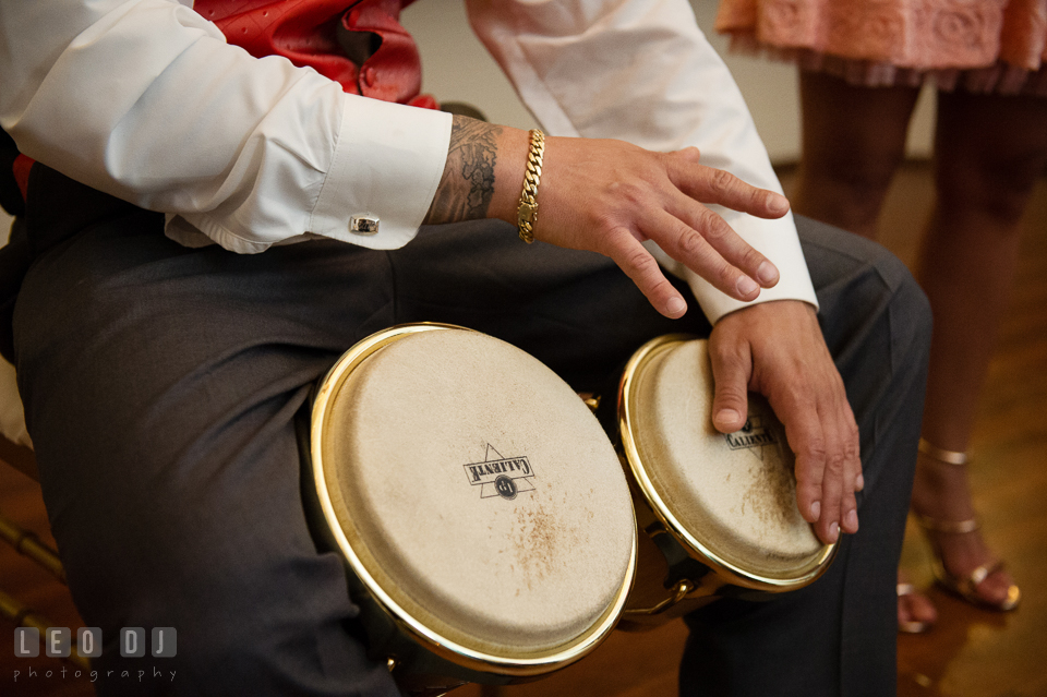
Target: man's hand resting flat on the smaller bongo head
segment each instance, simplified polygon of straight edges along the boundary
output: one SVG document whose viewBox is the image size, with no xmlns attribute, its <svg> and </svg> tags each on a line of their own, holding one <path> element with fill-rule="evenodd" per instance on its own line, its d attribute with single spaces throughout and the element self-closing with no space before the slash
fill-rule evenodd
<svg viewBox="0 0 1047 697">
<path fill-rule="evenodd" d="M 815 309 L 796 300 L 759 303 L 722 317 L 709 338 L 715 380 L 713 423 L 745 424 L 747 392 L 770 401 L 796 454 L 801 514 L 823 542 L 858 530 L 864 486 L 858 426 Z"/>
</svg>

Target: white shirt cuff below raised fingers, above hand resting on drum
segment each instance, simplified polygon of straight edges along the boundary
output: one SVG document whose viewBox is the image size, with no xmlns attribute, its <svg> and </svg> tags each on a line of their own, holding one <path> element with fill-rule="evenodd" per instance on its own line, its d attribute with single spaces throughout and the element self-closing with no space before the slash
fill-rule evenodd
<svg viewBox="0 0 1047 697">
<path fill-rule="evenodd" d="M 654 259 L 671 274 L 687 281 L 710 323 L 715 324 L 720 321 L 720 317 L 735 310 L 772 300 L 802 300 L 814 305 L 816 310 L 818 309 L 818 297 L 815 295 L 815 287 L 810 281 L 810 274 L 807 271 L 804 251 L 799 245 L 799 238 L 796 236 L 796 224 L 793 220 L 792 213 L 774 220 L 766 220 L 720 206 L 709 207 L 718 213 L 746 242 L 771 260 L 781 274 L 777 286 L 762 288 L 756 300 L 744 302 L 721 292 L 705 278 L 670 257 L 659 247 L 648 242 L 647 247 Z"/>
</svg>

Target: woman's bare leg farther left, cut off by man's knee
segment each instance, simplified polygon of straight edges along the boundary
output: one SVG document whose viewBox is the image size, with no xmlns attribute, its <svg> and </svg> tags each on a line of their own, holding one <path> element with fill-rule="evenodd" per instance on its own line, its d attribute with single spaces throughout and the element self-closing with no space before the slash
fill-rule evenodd
<svg viewBox="0 0 1047 697">
<path fill-rule="evenodd" d="M 905 154 L 905 134 L 919 92 L 855 87 L 802 71 L 804 156 L 793 209 L 867 238 Z"/>
</svg>

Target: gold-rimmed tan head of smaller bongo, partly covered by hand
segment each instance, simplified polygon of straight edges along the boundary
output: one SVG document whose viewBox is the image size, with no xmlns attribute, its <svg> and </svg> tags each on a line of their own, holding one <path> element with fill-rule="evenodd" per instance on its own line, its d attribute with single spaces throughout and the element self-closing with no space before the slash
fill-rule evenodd
<svg viewBox="0 0 1047 697">
<path fill-rule="evenodd" d="M 707 343 L 670 336 L 634 356 L 619 401 L 623 443 L 655 515 L 693 555 L 733 582 L 763 590 L 804 586 L 834 551 L 796 505 L 784 426 L 749 394 L 746 426 L 712 425 Z"/>
</svg>

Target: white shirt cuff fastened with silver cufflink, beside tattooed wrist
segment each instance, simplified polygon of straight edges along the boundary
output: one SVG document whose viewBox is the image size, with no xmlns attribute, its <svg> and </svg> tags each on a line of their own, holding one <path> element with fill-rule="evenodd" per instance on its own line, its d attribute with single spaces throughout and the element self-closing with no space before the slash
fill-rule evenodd
<svg viewBox="0 0 1047 697">
<path fill-rule="evenodd" d="M 370 249 L 410 242 L 443 176 L 452 120 L 443 111 L 345 95 L 338 145 L 309 231 Z"/>
</svg>

